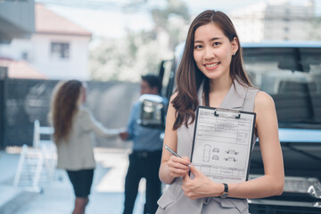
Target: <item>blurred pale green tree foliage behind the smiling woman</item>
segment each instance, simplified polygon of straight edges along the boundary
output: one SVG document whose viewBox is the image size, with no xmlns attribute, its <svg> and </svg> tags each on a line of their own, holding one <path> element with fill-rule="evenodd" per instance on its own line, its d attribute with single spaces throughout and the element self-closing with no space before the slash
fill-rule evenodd
<svg viewBox="0 0 321 214">
<path fill-rule="evenodd" d="M 152 30 L 128 30 L 126 37 L 103 38 L 90 51 L 93 80 L 137 82 L 143 74 L 158 74 L 161 60 L 172 57 L 174 47 L 185 40 L 189 14 L 184 2 L 168 0 L 166 8 L 153 9 L 151 15 Z"/>
</svg>

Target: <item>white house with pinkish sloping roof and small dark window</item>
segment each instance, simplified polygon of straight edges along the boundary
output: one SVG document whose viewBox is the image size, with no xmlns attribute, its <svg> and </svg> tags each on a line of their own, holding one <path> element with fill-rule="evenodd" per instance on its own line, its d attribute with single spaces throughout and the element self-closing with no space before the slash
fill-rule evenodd
<svg viewBox="0 0 321 214">
<path fill-rule="evenodd" d="M 0 45 L 0 57 L 25 60 L 50 79 L 87 80 L 91 33 L 77 24 L 35 4 L 35 34 Z"/>
</svg>

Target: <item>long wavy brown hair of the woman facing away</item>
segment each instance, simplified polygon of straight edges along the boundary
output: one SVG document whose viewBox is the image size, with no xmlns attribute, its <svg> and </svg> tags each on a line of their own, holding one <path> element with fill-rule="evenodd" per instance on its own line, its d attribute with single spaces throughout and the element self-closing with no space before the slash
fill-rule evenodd
<svg viewBox="0 0 321 214">
<path fill-rule="evenodd" d="M 49 115 L 54 128 L 53 140 L 57 145 L 62 140 L 68 140 L 73 116 L 78 111 L 77 102 L 82 86 L 78 80 L 69 80 L 58 83 L 53 90 Z"/>
</svg>

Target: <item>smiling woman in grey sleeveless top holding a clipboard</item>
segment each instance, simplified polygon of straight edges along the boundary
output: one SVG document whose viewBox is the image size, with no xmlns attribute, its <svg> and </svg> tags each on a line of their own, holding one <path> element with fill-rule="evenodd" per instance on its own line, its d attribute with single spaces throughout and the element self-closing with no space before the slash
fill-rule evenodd
<svg viewBox="0 0 321 214">
<path fill-rule="evenodd" d="M 193 167 L 190 157 L 198 105 L 257 114 L 253 142 L 258 136 L 264 176 L 243 183 L 218 184 Z M 202 12 L 190 26 L 177 70 L 177 90 L 169 103 L 164 144 L 183 158 L 162 152 L 160 178 L 170 186 L 158 202 L 158 214 L 248 213 L 246 199 L 283 192 L 284 166 L 275 104 L 269 95 L 251 86 L 235 27 L 223 12 Z"/>
</svg>

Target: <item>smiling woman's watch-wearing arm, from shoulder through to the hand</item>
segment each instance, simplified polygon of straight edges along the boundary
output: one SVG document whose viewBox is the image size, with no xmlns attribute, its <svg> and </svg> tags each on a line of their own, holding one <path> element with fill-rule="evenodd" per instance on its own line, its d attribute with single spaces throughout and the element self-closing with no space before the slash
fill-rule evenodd
<svg viewBox="0 0 321 214">
<path fill-rule="evenodd" d="M 254 111 L 257 113 L 256 128 L 265 175 L 243 183 L 228 184 L 229 197 L 263 198 L 283 192 L 284 164 L 278 138 L 275 103 L 269 95 L 259 92 L 255 99 Z M 211 181 L 193 167 L 191 170 L 195 178 L 185 176 L 183 182 L 183 190 L 189 198 L 218 196 L 223 192 L 222 184 Z"/>
</svg>

